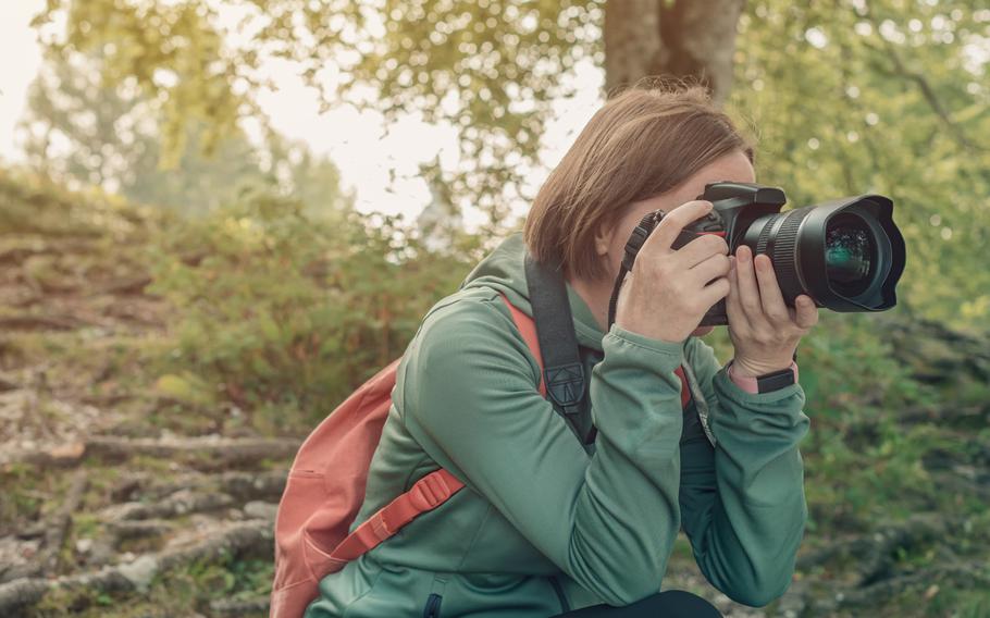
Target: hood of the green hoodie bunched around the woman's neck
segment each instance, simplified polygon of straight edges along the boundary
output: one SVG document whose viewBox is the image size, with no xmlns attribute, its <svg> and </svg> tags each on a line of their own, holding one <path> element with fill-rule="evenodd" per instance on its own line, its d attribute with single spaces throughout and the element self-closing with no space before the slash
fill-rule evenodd
<svg viewBox="0 0 990 618">
<path fill-rule="evenodd" d="M 516 232 L 478 262 L 478 265 L 460 284 L 460 289 L 478 286 L 494 288 L 504 293 L 509 302 L 523 313 L 532 317 L 533 309 L 530 306 L 529 289 L 525 285 L 524 257 L 525 244 L 522 242 L 522 232 Z M 570 284 L 565 283 L 565 285 L 571 317 L 574 320 L 578 344 L 601 350 L 602 337 L 605 336 L 605 333 L 584 299 L 574 292 Z"/>
</svg>

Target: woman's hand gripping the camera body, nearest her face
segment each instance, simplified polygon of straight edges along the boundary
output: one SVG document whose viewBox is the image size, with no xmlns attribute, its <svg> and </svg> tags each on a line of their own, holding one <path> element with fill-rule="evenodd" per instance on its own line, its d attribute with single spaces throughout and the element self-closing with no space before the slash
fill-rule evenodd
<svg viewBox="0 0 990 618">
<path fill-rule="evenodd" d="M 671 248 L 681 230 L 711 208 L 710 201 L 689 201 L 660 220 L 619 291 L 616 324 L 645 337 L 680 343 L 729 294 L 725 238 L 705 234 L 680 249 Z"/>
</svg>

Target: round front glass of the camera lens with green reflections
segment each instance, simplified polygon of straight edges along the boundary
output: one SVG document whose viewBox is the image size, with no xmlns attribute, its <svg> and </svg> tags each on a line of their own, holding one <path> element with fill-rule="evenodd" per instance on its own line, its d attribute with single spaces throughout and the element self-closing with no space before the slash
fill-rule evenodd
<svg viewBox="0 0 990 618">
<path fill-rule="evenodd" d="M 829 282 L 842 294 L 855 296 L 866 289 L 874 263 L 874 244 L 865 221 L 850 213 L 829 221 L 825 263 Z"/>
</svg>

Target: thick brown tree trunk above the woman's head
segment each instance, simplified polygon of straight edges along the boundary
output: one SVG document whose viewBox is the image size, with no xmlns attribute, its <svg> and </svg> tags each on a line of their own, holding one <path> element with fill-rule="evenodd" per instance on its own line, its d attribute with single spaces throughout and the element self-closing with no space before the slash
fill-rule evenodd
<svg viewBox="0 0 990 618">
<path fill-rule="evenodd" d="M 698 79 L 721 104 L 732 88 L 735 29 L 745 0 L 608 0 L 605 87 L 651 76 Z"/>
</svg>

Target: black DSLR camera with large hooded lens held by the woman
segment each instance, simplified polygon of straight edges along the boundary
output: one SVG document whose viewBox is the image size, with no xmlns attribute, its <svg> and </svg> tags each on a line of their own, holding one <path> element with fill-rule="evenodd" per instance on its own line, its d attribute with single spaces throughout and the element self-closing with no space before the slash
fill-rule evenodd
<svg viewBox="0 0 990 618">
<path fill-rule="evenodd" d="M 890 198 L 861 195 L 780 212 L 787 202 L 782 189 L 720 182 L 706 185 L 697 199 L 710 201 L 711 210 L 685 226 L 671 248 L 680 249 L 702 234 L 717 234 L 726 239 L 730 255 L 740 245 L 747 245 L 754 256 L 766 254 L 784 302 L 792 307 L 802 294 L 832 311 L 884 311 L 896 305 L 906 254 Z M 632 269 L 636 252 L 664 215 L 655 211 L 636 226 L 626 245 L 623 270 Z M 728 323 L 723 298 L 700 325 Z"/>
</svg>

